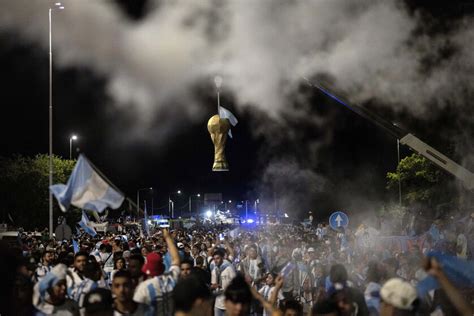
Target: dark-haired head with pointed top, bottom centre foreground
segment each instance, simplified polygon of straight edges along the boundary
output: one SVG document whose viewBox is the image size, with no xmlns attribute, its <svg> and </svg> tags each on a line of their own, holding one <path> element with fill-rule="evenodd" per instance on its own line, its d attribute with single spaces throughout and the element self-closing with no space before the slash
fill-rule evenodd
<svg viewBox="0 0 474 316">
<path fill-rule="evenodd" d="M 227 316 L 247 315 L 250 303 L 252 302 L 252 292 L 242 275 L 237 275 L 226 288 L 225 308 Z"/>
</svg>

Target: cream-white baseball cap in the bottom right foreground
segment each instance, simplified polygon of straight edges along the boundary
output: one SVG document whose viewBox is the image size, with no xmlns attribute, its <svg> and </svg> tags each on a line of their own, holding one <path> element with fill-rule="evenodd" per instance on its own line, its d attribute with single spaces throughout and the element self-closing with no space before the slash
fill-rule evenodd
<svg viewBox="0 0 474 316">
<path fill-rule="evenodd" d="M 380 289 L 382 300 L 398 309 L 411 310 L 417 299 L 416 289 L 408 282 L 392 278 Z"/>
</svg>

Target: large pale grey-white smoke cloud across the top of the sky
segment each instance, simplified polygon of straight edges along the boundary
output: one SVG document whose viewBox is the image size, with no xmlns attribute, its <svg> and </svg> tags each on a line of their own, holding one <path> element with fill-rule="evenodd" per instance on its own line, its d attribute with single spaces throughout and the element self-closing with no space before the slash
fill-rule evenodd
<svg viewBox="0 0 474 316">
<path fill-rule="evenodd" d="M 472 23 L 452 35 L 455 56 L 424 71 L 423 57 L 446 39 L 414 41 L 416 16 L 395 0 L 168 0 L 138 23 L 109 1 L 64 3 L 53 13 L 55 60 L 106 75 L 115 104 L 133 107 L 141 126 L 175 106 L 199 117 L 187 91 L 216 73 L 239 105 L 273 118 L 301 76 L 326 73 L 355 101 L 378 98 L 423 115 L 433 102 L 462 95 L 474 73 Z M 1 29 L 47 48 L 50 4 L 2 1 Z"/>
</svg>

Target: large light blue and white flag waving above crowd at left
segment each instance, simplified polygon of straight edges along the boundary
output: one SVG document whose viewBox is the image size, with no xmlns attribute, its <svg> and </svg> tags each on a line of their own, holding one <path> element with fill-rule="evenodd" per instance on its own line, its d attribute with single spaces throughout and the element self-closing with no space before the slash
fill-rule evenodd
<svg viewBox="0 0 474 316">
<path fill-rule="evenodd" d="M 74 205 L 101 213 L 107 207 L 119 208 L 124 200 L 123 194 L 105 181 L 83 155 L 79 156 L 67 185 L 55 184 L 49 189 L 63 212 Z"/>
</svg>

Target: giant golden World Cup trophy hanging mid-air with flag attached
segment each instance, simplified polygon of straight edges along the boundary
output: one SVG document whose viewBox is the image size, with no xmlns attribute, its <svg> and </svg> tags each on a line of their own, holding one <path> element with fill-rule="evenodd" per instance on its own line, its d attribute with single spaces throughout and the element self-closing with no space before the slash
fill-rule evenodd
<svg viewBox="0 0 474 316">
<path fill-rule="evenodd" d="M 227 134 L 232 137 L 230 127 L 235 126 L 238 121 L 229 110 L 220 105 L 219 89 L 222 85 L 222 78 L 217 76 L 214 78 L 214 82 L 217 88 L 217 114 L 207 122 L 207 130 L 211 134 L 212 143 L 214 144 L 212 171 L 229 171 L 229 164 L 225 159 L 225 144 Z"/>
</svg>

